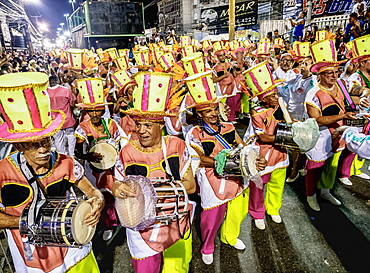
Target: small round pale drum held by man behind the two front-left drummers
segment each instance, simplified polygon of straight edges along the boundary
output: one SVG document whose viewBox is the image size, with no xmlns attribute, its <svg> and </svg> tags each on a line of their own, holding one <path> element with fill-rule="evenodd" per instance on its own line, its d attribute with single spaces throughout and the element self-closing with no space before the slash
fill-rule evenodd
<svg viewBox="0 0 370 273">
<path fill-rule="evenodd" d="M 91 165 L 99 170 L 108 170 L 116 164 L 118 148 L 114 140 L 103 139 L 95 142 L 89 153 L 98 153 L 103 156 L 99 162 L 90 162 Z"/>
</svg>

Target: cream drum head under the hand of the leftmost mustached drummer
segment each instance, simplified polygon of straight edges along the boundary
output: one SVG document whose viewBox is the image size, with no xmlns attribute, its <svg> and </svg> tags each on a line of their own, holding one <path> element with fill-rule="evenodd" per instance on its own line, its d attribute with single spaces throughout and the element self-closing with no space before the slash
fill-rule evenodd
<svg viewBox="0 0 370 273">
<path fill-rule="evenodd" d="M 85 217 L 92 212 L 92 206 L 86 201 L 78 203 L 72 214 L 72 235 L 79 245 L 86 245 L 94 236 L 96 226 L 88 226 Z"/>
</svg>

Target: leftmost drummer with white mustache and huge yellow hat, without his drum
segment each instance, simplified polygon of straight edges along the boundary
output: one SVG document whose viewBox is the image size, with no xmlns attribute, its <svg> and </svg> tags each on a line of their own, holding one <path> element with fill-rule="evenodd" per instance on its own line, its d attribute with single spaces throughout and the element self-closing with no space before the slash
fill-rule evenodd
<svg viewBox="0 0 370 273">
<path fill-rule="evenodd" d="M 76 160 L 51 151 L 50 138 L 62 128 L 65 115 L 50 110 L 47 75 L 9 74 L 1 76 L 0 82 L 0 112 L 6 121 L 0 128 L 0 140 L 14 143 L 18 150 L 0 161 L 0 223 L 7 229 L 16 271 L 99 272 L 91 244 L 81 248 L 39 247 L 22 240 L 27 237 L 20 236 L 20 216 L 33 198 L 65 197 L 75 184 L 92 205 L 81 229 L 85 224 L 97 224 L 104 198 L 83 175 L 84 169 Z M 37 196 L 33 196 L 36 191 Z"/>
</svg>

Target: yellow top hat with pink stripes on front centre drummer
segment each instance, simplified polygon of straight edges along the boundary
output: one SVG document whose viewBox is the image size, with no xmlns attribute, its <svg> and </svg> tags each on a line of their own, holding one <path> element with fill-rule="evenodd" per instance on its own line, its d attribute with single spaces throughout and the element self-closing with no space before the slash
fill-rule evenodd
<svg viewBox="0 0 370 273">
<path fill-rule="evenodd" d="M 175 115 L 165 112 L 173 84 L 170 73 L 139 72 L 134 79 L 137 82 L 132 94 L 134 107 L 124 113 L 135 120 L 163 120 L 165 116 Z"/>
</svg>

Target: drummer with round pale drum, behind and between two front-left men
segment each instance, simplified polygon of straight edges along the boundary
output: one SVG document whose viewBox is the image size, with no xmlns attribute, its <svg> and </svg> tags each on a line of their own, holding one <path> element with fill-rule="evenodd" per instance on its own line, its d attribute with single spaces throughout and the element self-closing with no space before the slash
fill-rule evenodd
<svg viewBox="0 0 370 273">
<path fill-rule="evenodd" d="M 127 142 L 127 136 L 117 122 L 102 117 L 107 105 L 102 80 L 86 78 L 76 80 L 76 84 L 83 101 L 77 106 L 84 109 L 90 118 L 81 122 L 75 130 L 75 154 L 85 160 L 86 177 L 105 196 L 101 223 L 106 229 L 103 238 L 107 240 L 112 235 L 112 228 L 118 224 L 110 194 L 114 182 L 113 166 L 120 148 Z M 84 145 L 87 146 L 87 153 L 84 152 Z M 103 148 L 97 148 L 99 145 Z"/>
</svg>

